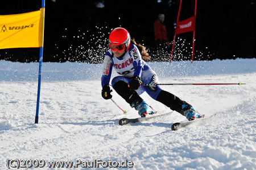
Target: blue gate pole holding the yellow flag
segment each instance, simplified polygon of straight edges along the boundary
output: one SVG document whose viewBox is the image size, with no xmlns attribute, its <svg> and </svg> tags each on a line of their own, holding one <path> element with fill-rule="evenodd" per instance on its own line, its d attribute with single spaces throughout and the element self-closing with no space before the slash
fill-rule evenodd
<svg viewBox="0 0 256 170">
<path fill-rule="evenodd" d="M 42 0 L 42 8 L 44 8 L 44 7 L 45 7 L 45 0 Z M 43 33 L 42 33 L 42 34 L 43 34 Z M 38 123 L 38 117 L 39 117 L 39 102 L 40 102 L 42 63 L 43 63 L 43 47 L 40 47 L 40 55 L 39 55 L 39 73 L 38 73 L 38 99 L 37 99 L 37 102 L 36 102 L 36 117 L 35 117 L 35 123 Z"/>
</svg>

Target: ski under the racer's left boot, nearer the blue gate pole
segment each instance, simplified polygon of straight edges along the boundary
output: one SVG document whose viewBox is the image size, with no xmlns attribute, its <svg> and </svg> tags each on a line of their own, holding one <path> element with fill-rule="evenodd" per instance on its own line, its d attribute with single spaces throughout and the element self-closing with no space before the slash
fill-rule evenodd
<svg viewBox="0 0 256 170">
<path fill-rule="evenodd" d="M 155 113 L 155 114 L 147 116 L 147 117 L 134 118 L 134 119 L 122 118 L 122 119 L 119 120 L 119 125 L 123 126 L 123 125 L 127 125 L 129 123 L 142 122 L 142 121 L 146 121 L 148 119 L 167 116 L 167 115 L 170 115 L 172 113 L 174 113 L 174 111 L 170 111 L 170 112 L 164 113 L 164 114 Z"/>
</svg>

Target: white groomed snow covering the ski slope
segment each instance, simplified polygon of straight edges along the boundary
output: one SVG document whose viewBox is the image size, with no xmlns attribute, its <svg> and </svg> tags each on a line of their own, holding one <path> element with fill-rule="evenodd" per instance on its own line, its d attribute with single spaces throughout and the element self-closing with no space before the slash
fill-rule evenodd
<svg viewBox="0 0 256 170">
<path fill-rule="evenodd" d="M 178 131 L 171 131 L 172 123 L 186 119 L 176 112 L 119 126 L 120 118 L 138 113 L 115 92 L 114 101 L 127 115 L 101 97 L 102 64 L 43 63 L 35 125 L 39 64 L 0 60 L 0 169 L 7 169 L 7 159 L 126 159 L 133 169 L 256 169 L 256 59 L 149 64 L 160 83 L 246 85 L 162 86 L 201 114 L 215 115 Z M 146 93 L 142 98 L 160 113 L 170 110 Z"/>
</svg>

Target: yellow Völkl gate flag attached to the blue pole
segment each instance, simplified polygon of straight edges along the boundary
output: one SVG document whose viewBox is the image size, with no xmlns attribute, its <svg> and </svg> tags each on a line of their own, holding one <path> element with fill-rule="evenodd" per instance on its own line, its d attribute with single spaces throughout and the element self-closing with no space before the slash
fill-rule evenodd
<svg viewBox="0 0 256 170">
<path fill-rule="evenodd" d="M 44 8 L 38 11 L 0 15 L 0 49 L 43 47 Z"/>
</svg>

